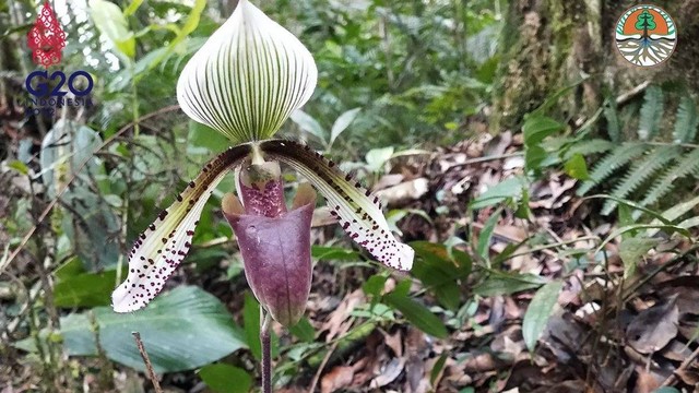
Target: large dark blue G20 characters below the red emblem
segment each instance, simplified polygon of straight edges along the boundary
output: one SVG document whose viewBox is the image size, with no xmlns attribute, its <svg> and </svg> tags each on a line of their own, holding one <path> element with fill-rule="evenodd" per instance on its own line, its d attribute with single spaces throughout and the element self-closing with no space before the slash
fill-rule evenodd
<svg viewBox="0 0 699 393">
<path fill-rule="evenodd" d="M 86 85 L 84 86 L 81 81 L 82 79 L 86 81 Z M 35 82 L 35 80 L 37 81 Z M 58 81 L 54 88 L 50 88 L 49 82 L 51 81 Z M 94 84 L 92 76 L 85 71 L 75 71 L 67 78 L 66 73 L 60 70 L 54 71 L 50 74 L 46 70 L 37 70 L 32 72 L 24 82 L 26 91 L 35 97 L 44 97 L 46 95 L 62 97 L 68 93 L 63 90 L 63 86 L 67 86 L 75 97 L 84 97 L 90 94 Z"/>
</svg>

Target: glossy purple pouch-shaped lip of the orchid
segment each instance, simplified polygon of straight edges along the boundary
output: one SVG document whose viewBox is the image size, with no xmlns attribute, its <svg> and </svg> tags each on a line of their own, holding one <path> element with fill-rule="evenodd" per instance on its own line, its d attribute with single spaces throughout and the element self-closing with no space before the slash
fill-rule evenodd
<svg viewBox="0 0 699 393">
<path fill-rule="evenodd" d="M 304 314 L 312 278 L 310 226 L 316 193 L 305 186 L 299 187 L 293 210 L 275 217 L 247 214 L 233 194 L 222 203 L 252 293 L 285 326 L 296 324 Z"/>
</svg>

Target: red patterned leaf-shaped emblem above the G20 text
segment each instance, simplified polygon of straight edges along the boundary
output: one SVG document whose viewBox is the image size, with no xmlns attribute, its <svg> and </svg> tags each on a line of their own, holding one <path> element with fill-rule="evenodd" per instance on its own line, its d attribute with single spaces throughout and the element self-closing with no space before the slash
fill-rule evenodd
<svg viewBox="0 0 699 393">
<path fill-rule="evenodd" d="M 66 32 L 56 19 L 48 1 L 36 17 L 34 27 L 27 34 L 32 59 L 36 66 L 48 68 L 61 61 L 61 50 L 66 47 Z"/>
</svg>

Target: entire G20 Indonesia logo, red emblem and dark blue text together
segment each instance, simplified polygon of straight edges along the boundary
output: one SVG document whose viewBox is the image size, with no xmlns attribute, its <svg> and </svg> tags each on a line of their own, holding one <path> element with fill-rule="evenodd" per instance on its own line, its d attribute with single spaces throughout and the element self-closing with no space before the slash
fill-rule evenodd
<svg viewBox="0 0 699 393">
<path fill-rule="evenodd" d="M 26 117 L 39 114 L 52 116 L 56 109 L 66 106 L 92 107 L 88 95 L 94 81 L 90 73 L 79 70 L 67 75 L 61 70 L 49 71 L 49 67 L 61 62 L 66 32 L 48 1 L 42 7 L 27 34 L 27 44 L 32 49 L 32 60 L 43 69 L 31 72 L 24 81 L 29 94 L 29 98 L 23 103 Z"/>
</svg>

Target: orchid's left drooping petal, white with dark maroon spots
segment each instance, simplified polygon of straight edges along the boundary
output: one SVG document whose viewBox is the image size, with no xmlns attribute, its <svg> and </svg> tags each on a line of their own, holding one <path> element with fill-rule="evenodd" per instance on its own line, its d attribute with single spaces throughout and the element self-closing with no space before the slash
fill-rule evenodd
<svg viewBox="0 0 699 393">
<path fill-rule="evenodd" d="M 229 169 L 250 152 L 250 145 L 230 147 L 209 162 L 171 206 L 139 236 L 129 253 L 129 275 L 111 294 L 117 312 L 135 311 L 157 295 L 185 259 L 194 227 L 209 196 Z"/>
</svg>

